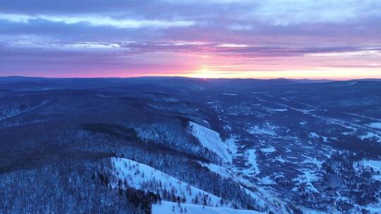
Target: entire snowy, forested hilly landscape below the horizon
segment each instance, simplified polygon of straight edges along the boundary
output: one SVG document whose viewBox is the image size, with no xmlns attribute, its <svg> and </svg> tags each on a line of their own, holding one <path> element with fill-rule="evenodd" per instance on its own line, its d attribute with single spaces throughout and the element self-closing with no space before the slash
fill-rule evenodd
<svg viewBox="0 0 381 214">
<path fill-rule="evenodd" d="M 1 79 L 0 213 L 381 213 L 378 81 Z"/>
</svg>

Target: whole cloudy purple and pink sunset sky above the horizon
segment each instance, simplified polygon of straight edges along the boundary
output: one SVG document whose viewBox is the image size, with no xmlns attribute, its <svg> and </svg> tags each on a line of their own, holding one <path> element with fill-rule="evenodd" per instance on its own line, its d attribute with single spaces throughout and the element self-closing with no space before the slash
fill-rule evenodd
<svg viewBox="0 0 381 214">
<path fill-rule="evenodd" d="M 0 0 L 0 76 L 381 78 L 379 0 Z"/>
</svg>

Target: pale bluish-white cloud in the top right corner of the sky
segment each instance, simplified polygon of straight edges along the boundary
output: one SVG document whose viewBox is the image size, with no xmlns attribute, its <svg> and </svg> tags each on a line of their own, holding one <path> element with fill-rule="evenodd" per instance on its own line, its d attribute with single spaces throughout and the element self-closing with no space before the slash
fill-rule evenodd
<svg viewBox="0 0 381 214">
<path fill-rule="evenodd" d="M 298 23 L 351 23 L 380 13 L 380 1 L 367 1 L 359 4 L 356 0 L 268 0 L 261 1 L 260 5 L 250 14 L 262 21 L 274 23 L 274 25 L 292 25 Z"/>
</svg>

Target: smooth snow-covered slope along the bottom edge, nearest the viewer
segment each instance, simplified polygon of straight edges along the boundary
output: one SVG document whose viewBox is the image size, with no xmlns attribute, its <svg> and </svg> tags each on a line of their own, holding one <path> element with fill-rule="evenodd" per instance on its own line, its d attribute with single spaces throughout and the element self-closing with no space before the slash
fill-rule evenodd
<svg viewBox="0 0 381 214">
<path fill-rule="evenodd" d="M 162 204 L 152 205 L 152 214 L 260 214 L 260 212 L 253 210 L 234 210 L 231 208 L 220 208 L 201 206 L 196 204 L 178 203 L 162 201 Z"/>
</svg>

